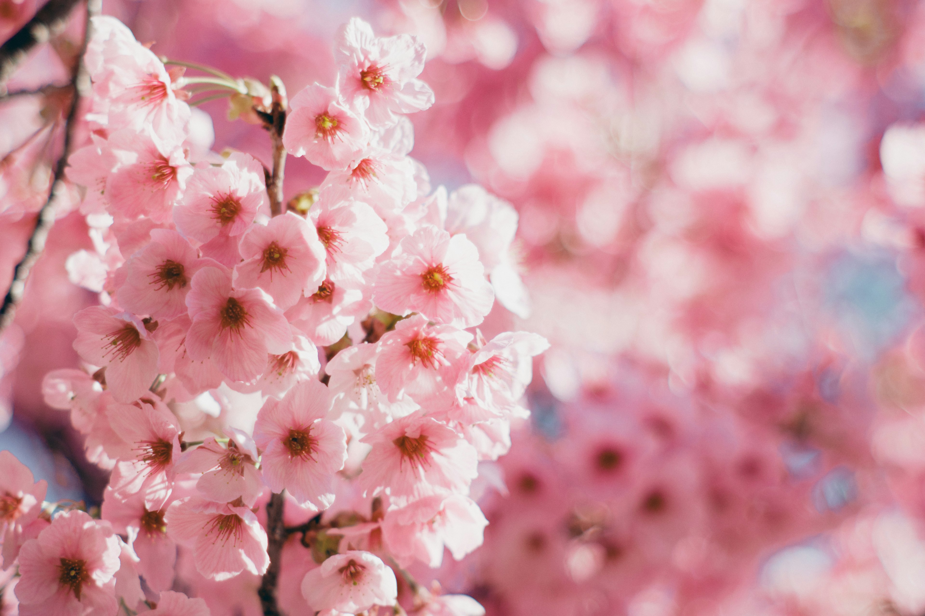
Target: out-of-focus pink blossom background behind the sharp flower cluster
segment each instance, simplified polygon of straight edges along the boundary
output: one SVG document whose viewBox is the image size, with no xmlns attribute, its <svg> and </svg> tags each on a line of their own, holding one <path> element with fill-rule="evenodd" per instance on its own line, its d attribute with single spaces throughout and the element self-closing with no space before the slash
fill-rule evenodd
<svg viewBox="0 0 925 616">
<path fill-rule="evenodd" d="M 38 5 L 0 0 L 0 38 Z M 520 216 L 504 265 L 524 286 L 512 275 L 512 310 L 496 305 L 482 328 L 552 346 L 531 417 L 474 495 L 485 545 L 413 569 L 419 580 L 492 615 L 925 610 L 925 4 L 103 12 L 156 54 L 275 74 L 290 94 L 333 81 L 330 42 L 353 16 L 425 42 L 436 103 L 411 116 L 413 157 L 433 186 L 479 183 Z M 45 44 L 8 87 L 66 79 Z M 50 183 L 43 104 L 0 103 L 4 289 Z M 270 158 L 265 131 L 229 120 L 226 100 L 193 126 L 203 148 Z M 290 158 L 287 199 L 323 176 Z M 85 218 L 62 211 L 0 339 L 0 449 L 48 480 L 49 500 L 98 504 L 105 486 L 41 391 L 49 370 L 78 365 L 71 319 L 102 290 L 87 275 L 100 259 Z"/>
</svg>

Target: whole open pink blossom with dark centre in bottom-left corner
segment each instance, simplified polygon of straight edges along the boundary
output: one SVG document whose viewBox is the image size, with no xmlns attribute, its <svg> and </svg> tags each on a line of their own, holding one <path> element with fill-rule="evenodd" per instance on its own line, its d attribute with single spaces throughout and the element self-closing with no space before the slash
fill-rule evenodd
<svg viewBox="0 0 925 616">
<path fill-rule="evenodd" d="M 115 614 L 119 552 L 108 522 L 81 511 L 59 513 L 19 551 L 19 613 Z"/>
</svg>

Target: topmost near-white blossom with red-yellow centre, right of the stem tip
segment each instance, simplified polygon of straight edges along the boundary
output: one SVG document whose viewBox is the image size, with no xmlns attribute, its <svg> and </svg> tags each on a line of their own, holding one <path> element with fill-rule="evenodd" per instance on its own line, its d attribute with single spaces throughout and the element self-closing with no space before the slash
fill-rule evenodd
<svg viewBox="0 0 925 616">
<path fill-rule="evenodd" d="M 364 109 L 372 125 L 387 125 L 396 114 L 410 114 L 434 103 L 434 92 L 420 79 L 424 43 L 410 34 L 376 38 L 369 24 L 351 18 L 338 34 L 335 56 L 344 97 Z"/>
</svg>

